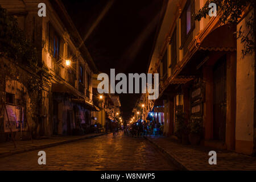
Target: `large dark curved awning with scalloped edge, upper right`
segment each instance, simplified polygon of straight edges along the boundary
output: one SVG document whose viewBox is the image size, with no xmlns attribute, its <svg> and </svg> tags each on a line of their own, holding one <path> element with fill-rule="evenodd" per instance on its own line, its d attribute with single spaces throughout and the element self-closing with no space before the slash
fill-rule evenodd
<svg viewBox="0 0 256 182">
<path fill-rule="evenodd" d="M 236 51 L 236 26 L 225 24 L 217 27 L 201 42 L 199 49 L 204 51 Z"/>
</svg>

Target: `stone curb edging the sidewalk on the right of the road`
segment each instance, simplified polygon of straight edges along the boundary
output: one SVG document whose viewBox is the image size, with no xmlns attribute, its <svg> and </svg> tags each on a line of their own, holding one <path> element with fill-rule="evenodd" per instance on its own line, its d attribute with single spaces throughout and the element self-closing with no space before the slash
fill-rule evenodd
<svg viewBox="0 0 256 182">
<path fill-rule="evenodd" d="M 144 137 L 145 139 L 147 139 L 150 143 L 152 143 L 156 148 L 158 148 L 159 151 L 163 152 L 163 154 L 165 154 L 167 156 L 167 158 L 169 160 L 171 160 L 172 163 L 175 164 L 175 166 L 177 166 L 180 170 L 184 170 L 184 171 L 192 171 L 191 168 L 186 167 L 184 163 L 182 163 L 179 159 L 177 159 L 177 157 L 175 156 L 175 154 L 171 154 L 170 152 L 164 150 L 164 148 L 160 147 L 158 144 L 156 144 L 155 142 L 153 142 L 151 139 L 149 139 L 148 137 Z"/>
</svg>

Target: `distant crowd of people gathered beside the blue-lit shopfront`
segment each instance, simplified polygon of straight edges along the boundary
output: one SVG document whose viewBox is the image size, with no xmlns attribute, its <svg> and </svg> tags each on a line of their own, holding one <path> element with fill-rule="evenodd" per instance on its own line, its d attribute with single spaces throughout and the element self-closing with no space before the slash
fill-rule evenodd
<svg viewBox="0 0 256 182">
<path fill-rule="evenodd" d="M 125 129 L 125 134 L 131 137 L 134 136 L 146 136 L 146 135 L 163 135 L 164 123 L 159 123 L 155 121 L 146 122 L 140 119 L 134 122 L 132 125 L 127 126 Z"/>
</svg>

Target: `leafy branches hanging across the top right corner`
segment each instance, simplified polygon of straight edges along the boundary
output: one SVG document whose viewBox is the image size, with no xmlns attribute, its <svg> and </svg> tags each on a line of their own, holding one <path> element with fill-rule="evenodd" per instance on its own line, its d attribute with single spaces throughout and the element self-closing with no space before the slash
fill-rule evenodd
<svg viewBox="0 0 256 182">
<path fill-rule="evenodd" d="M 209 13 L 209 3 L 216 3 L 218 16 L 220 17 L 220 22 L 237 24 L 238 20 L 242 16 L 242 10 L 246 6 L 254 7 L 256 2 L 255 0 L 208 0 L 207 3 L 196 13 L 195 20 L 200 21 L 201 18 L 206 18 Z M 248 53 L 252 53 L 255 48 L 255 23 L 254 23 L 254 14 L 251 15 L 249 21 L 246 23 L 246 27 L 249 28 L 249 32 L 246 35 L 245 32 L 238 31 L 238 39 L 241 39 L 241 43 L 244 46 L 242 50 L 243 56 Z"/>
</svg>

